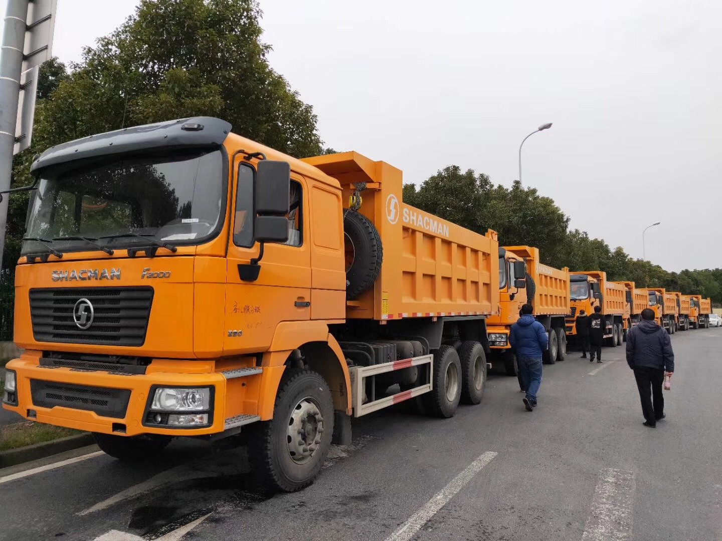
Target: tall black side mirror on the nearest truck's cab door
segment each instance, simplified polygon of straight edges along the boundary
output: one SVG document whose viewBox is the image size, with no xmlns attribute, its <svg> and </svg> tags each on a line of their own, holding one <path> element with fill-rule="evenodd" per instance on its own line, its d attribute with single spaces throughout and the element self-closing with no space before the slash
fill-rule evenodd
<svg viewBox="0 0 722 541">
<path fill-rule="evenodd" d="M 291 166 L 288 162 L 261 160 L 253 185 L 257 242 L 287 242 Z"/>
</svg>

